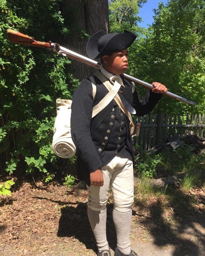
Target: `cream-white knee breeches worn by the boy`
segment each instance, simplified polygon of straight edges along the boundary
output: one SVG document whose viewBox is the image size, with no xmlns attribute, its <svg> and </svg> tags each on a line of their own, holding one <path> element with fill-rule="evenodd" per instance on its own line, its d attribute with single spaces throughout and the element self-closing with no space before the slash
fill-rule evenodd
<svg viewBox="0 0 205 256">
<path fill-rule="evenodd" d="M 127 212 L 134 201 L 133 162 L 127 158 L 115 156 L 102 168 L 104 185 L 88 187 L 88 207 L 94 211 L 106 208 L 109 187 L 112 191 L 114 208 L 119 212 Z"/>
</svg>

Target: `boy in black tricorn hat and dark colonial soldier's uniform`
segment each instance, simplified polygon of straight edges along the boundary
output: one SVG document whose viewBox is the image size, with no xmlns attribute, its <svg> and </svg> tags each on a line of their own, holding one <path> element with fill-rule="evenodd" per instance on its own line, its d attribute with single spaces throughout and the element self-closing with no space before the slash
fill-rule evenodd
<svg viewBox="0 0 205 256">
<path fill-rule="evenodd" d="M 111 256 L 106 238 L 109 187 L 117 233 L 114 256 L 137 255 L 130 244 L 134 201 L 133 123 L 130 113 L 136 111 L 137 116 L 144 116 L 159 102 L 161 93 L 167 92 L 163 84 L 154 82 L 153 89 L 140 99 L 137 88 L 120 76 L 128 67 L 127 48 L 135 39 L 136 35 L 126 30 L 123 33 L 95 33 L 88 40 L 86 51 L 88 57 L 101 58 L 102 62 L 100 71 L 92 77 L 96 95 L 93 97 L 91 78 L 83 80 L 73 94 L 71 135 L 77 148 L 78 177 L 87 183 L 87 213 L 97 242 L 98 256 Z M 108 94 L 106 83 L 111 87 L 120 86 L 119 92 L 92 118 L 93 107 Z"/>
</svg>

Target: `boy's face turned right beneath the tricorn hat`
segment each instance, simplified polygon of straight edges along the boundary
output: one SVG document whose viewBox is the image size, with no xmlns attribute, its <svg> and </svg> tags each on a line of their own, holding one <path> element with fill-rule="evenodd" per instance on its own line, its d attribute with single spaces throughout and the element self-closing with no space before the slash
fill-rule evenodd
<svg viewBox="0 0 205 256">
<path fill-rule="evenodd" d="M 114 52 L 111 55 L 102 56 L 103 67 L 110 73 L 120 75 L 124 73 L 128 67 L 127 49 Z"/>
</svg>

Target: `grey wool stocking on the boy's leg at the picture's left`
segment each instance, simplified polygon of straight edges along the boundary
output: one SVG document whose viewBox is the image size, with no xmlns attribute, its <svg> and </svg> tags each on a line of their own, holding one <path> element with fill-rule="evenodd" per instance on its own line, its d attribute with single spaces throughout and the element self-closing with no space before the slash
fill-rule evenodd
<svg viewBox="0 0 205 256">
<path fill-rule="evenodd" d="M 87 208 L 87 215 L 96 239 L 98 251 L 109 250 L 106 237 L 107 209 L 93 211 L 91 208 Z"/>
</svg>

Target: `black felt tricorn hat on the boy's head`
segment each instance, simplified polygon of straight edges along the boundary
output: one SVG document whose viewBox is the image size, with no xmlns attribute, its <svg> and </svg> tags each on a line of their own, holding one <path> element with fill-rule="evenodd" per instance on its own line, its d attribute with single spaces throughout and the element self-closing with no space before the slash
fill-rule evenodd
<svg viewBox="0 0 205 256">
<path fill-rule="evenodd" d="M 128 48 L 136 39 L 132 32 L 124 30 L 124 33 L 110 33 L 100 30 L 87 42 L 86 52 L 91 59 L 97 59 L 113 52 Z"/>
</svg>

